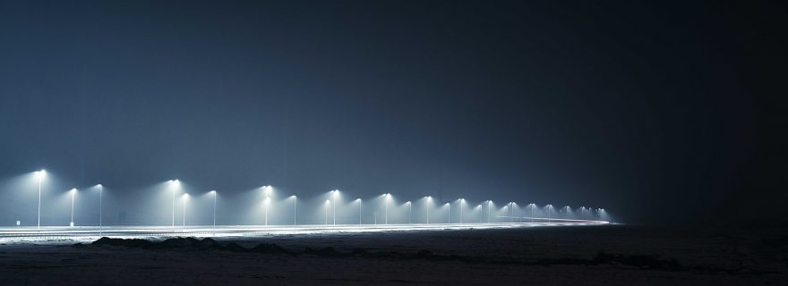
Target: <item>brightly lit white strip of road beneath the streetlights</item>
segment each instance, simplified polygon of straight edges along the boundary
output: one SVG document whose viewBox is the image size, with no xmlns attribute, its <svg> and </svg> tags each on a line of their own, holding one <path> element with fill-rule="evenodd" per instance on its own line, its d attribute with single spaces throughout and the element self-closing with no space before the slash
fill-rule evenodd
<svg viewBox="0 0 788 286">
<path fill-rule="evenodd" d="M 470 229 L 507 229 L 603 225 L 604 221 L 556 220 L 544 223 L 408 223 L 347 225 L 272 225 L 272 226 L 96 226 L 87 227 L 11 227 L 0 228 L 0 243 L 92 241 L 100 237 L 166 239 L 169 237 L 267 237 L 364 233 L 380 231 L 450 231 Z"/>
</svg>

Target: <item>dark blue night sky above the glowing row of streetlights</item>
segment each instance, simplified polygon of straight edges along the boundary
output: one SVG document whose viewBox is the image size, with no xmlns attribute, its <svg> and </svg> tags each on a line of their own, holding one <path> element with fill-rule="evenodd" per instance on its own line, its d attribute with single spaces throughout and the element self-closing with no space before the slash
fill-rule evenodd
<svg viewBox="0 0 788 286">
<path fill-rule="evenodd" d="M 777 214 L 785 19 L 776 1 L 3 1 L 0 177 Z"/>
</svg>

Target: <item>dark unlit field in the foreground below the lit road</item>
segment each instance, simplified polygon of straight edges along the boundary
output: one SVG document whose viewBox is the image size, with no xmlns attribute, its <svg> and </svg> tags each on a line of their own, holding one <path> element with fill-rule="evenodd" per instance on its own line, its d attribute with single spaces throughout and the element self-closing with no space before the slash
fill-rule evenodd
<svg viewBox="0 0 788 286">
<path fill-rule="evenodd" d="M 788 228 L 630 226 L 0 246 L 0 285 L 786 285 Z"/>
</svg>

